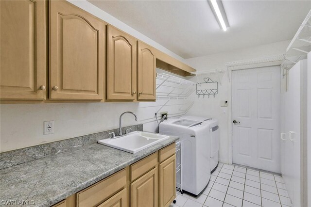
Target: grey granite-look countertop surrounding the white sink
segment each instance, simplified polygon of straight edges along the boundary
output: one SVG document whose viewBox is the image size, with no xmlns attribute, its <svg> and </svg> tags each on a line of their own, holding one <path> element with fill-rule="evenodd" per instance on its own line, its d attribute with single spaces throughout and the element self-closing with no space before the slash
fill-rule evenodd
<svg viewBox="0 0 311 207">
<path fill-rule="evenodd" d="M 32 207 L 51 206 L 178 139 L 171 136 L 136 154 L 94 143 L 4 168 L 0 170 L 0 205 L 14 200 L 28 201 Z"/>
</svg>

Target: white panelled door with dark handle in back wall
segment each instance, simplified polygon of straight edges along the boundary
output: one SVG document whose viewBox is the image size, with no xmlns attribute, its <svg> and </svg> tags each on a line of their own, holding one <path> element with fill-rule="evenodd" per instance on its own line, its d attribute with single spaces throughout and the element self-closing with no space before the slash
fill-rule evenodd
<svg viewBox="0 0 311 207">
<path fill-rule="evenodd" d="M 232 161 L 280 173 L 280 67 L 232 71 Z"/>
</svg>

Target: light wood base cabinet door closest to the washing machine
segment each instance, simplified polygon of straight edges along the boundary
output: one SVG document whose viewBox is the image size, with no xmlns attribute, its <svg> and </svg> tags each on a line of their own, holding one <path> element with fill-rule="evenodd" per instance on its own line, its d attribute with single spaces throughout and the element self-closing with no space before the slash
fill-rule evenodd
<svg viewBox="0 0 311 207">
<path fill-rule="evenodd" d="M 176 197 L 176 157 L 159 164 L 159 206 L 168 207 Z"/>
</svg>

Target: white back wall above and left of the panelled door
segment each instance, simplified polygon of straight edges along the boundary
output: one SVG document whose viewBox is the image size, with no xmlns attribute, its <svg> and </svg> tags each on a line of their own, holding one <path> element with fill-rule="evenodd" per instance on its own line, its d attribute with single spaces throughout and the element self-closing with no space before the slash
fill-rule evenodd
<svg viewBox="0 0 311 207">
<path fill-rule="evenodd" d="M 213 69 L 225 69 L 225 63 L 247 60 L 253 58 L 267 57 L 273 55 L 284 54 L 290 40 L 276 42 L 273 44 L 244 48 L 240 50 L 228 51 L 224 53 L 212 54 L 203 57 L 187 59 L 186 63 L 193 66 L 197 71 L 201 70 L 213 70 Z M 202 75 L 199 76 L 199 81 L 203 78 L 209 77 L 212 80 L 217 80 L 217 75 Z M 197 81 L 196 77 L 192 77 L 190 80 Z M 219 120 L 220 124 L 220 161 L 225 163 L 231 163 L 231 140 L 229 140 L 229 135 L 231 129 L 228 127 L 231 125 L 231 115 L 228 114 L 228 107 L 231 107 L 231 83 L 228 81 L 227 72 L 222 75 L 222 84 L 218 85 L 218 95 L 213 98 L 203 99 L 196 98 L 193 106 L 190 108 L 187 115 L 201 115 L 213 117 Z M 228 107 L 221 107 L 220 101 L 227 100 Z M 223 114 L 223 110 L 227 113 Z"/>
</svg>

